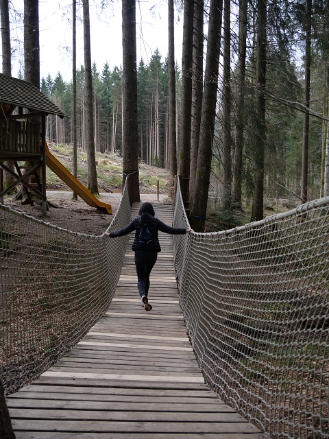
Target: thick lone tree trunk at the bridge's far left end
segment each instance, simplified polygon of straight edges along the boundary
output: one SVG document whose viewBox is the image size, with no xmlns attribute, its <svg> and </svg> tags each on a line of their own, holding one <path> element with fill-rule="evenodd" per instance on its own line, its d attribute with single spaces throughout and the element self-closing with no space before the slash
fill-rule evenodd
<svg viewBox="0 0 329 439">
<path fill-rule="evenodd" d="M 123 49 L 123 183 L 128 179 L 130 203 L 139 202 L 136 0 L 122 0 Z"/>
</svg>

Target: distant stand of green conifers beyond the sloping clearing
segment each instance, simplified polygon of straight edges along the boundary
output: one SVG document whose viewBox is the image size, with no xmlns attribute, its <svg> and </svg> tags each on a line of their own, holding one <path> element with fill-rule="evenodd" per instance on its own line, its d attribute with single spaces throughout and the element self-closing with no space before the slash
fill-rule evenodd
<svg viewBox="0 0 329 439">
<path fill-rule="evenodd" d="M 97 71 L 92 65 L 93 120 L 95 150 L 121 154 L 122 140 L 122 67 L 110 71 L 108 63 Z M 168 166 L 168 62 L 158 50 L 149 64 L 141 60 L 137 70 L 138 154 L 148 165 Z M 177 104 L 180 71 L 176 67 Z M 41 78 L 40 91 L 53 100 L 67 115 L 65 119 L 49 115 L 47 139 L 53 143 L 72 143 L 72 82 L 64 82 L 60 71 L 56 78 Z M 84 66 L 77 71 L 77 145 L 86 149 L 84 133 Z"/>
</svg>

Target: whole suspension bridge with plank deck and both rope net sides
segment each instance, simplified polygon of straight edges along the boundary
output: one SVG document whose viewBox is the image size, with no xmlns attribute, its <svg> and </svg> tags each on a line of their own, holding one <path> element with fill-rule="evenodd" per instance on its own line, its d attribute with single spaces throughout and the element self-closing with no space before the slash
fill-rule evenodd
<svg viewBox="0 0 329 439">
<path fill-rule="evenodd" d="M 329 198 L 161 236 L 146 313 L 129 237 L 0 206 L 1 372 L 17 439 L 329 438 Z M 109 230 L 136 216 L 127 191 Z M 167 224 L 188 227 L 180 191 Z"/>
</svg>

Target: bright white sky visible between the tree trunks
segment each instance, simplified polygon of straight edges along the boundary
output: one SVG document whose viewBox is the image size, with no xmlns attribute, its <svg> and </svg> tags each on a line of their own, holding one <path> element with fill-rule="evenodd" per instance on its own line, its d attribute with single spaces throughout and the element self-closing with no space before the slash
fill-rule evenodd
<svg viewBox="0 0 329 439">
<path fill-rule="evenodd" d="M 58 71 L 64 81 L 72 78 L 72 9 L 71 0 L 40 0 L 40 78 L 50 73 L 55 78 Z M 78 2 L 77 2 L 78 3 Z M 108 62 L 110 69 L 122 65 L 121 45 L 121 1 L 114 0 L 105 11 L 97 6 L 100 0 L 90 3 L 91 59 L 97 70 L 102 71 Z M 14 9 L 23 13 L 23 0 L 12 0 Z M 150 12 L 150 9 L 154 12 Z M 143 58 L 145 64 L 158 48 L 162 61 L 168 52 L 168 23 L 166 0 L 136 1 L 136 46 L 137 62 Z M 77 11 L 82 16 L 82 8 Z M 23 23 L 12 19 L 12 49 L 15 49 L 12 62 L 12 75 L 17 76 L 20 61 L 23 60 Z M 182 14 L 175 12 L 175 60 L 182 62 Z M 16 43 L 14 43 L 16 41 Z M 84 64 L 83 26 L 77 23 L 77 68 Z M 0 47 L 1 51 L 1 47 Z"/>
</svg>

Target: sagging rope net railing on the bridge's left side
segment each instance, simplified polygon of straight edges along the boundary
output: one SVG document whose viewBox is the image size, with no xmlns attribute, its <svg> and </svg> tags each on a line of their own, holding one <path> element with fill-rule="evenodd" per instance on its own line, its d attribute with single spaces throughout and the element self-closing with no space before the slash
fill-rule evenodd
<svg viewBox="0 0 329 439">
<path fill-rule="evenodd" d="M 127 185 L 108 230 L 130 221 Z M 52 226 L 0 204 L 1 379 L 16 392 L 79 342 L 106 311 L 128 237 Z"/>
</svg>

